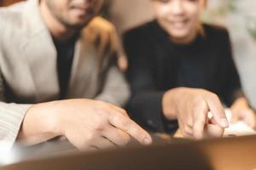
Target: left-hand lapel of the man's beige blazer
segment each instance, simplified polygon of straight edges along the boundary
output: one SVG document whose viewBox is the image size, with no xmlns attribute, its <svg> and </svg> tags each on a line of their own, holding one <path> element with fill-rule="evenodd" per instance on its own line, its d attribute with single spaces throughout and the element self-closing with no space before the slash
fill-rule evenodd
<svg viewBox="0 0 256 170">
<path fill-rule="evenodd" d="M 28 33 L 21 48 L 30 67 L 37 101 L 57 99 L 60 89 L 54 42 L 39 14 L 38 0 L 31 0 L 25 10 Z"/>
</svg>

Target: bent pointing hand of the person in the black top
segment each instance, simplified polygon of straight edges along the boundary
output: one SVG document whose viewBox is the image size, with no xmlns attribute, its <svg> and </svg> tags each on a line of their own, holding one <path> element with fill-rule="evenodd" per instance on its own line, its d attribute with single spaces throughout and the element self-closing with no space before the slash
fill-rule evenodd
<svg viewBox="0 0 256 170">
<path fill-rule="evenodd" d="M 164 94 L 163 112 L 167 119 L 177 119 L 186 138 L 221 137 L 229 123 L 216 94 L 195 88 L 174 88 Z M 212 119 L 208 112 L 212 112 Z"/>
</svg>

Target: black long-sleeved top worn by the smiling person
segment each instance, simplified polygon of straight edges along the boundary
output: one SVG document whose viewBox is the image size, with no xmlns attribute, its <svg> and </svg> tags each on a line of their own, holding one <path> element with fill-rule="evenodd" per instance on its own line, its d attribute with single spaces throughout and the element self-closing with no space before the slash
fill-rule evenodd
<svg viewBox="0 0 256 170">
<path fill-rule="evenodd" d="M 125 33 L 132 92 L 127 109 L 143 127 L 176 130 L 177 122 L 167 122 L 162 114 L 163 94 L 171 88 L 204 88 L 228 106 L 242 95 L 228 32 L 218 26 L 203 28 L 205 34 L 186 45 L 172 42 L 155 20 Z"/>
</svg>

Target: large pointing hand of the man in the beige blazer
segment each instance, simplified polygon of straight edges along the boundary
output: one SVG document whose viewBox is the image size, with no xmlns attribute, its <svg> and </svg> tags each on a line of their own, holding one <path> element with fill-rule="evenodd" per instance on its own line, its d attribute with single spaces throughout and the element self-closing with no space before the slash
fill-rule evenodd
<svg viewBox="0 0 256 170">
<path fill-rule="evenodd" d="M 123 146 L 130 136 L 141 144 L 151 143 L 149 134 L 114 105 L 82 99 L 63 101 L 61 107 L 61 134 L 80 149 Z"/>
</svg>

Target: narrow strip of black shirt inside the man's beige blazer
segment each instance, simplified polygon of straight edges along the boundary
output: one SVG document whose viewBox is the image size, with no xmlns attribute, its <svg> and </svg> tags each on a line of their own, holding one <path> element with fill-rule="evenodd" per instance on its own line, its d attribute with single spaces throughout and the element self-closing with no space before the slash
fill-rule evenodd
<svg viewBox="0 0 256 170">
<path fill-rule="evenodd" d="M 61 42 L 54 39 L 57 51 L 57 72 L 60 86 L 60 99 L 64 99 L 67 94 L 69 77 L 73 64 L 75 42 L 78 36 L 73 36 L 70 40 Z"/>
</svg>

